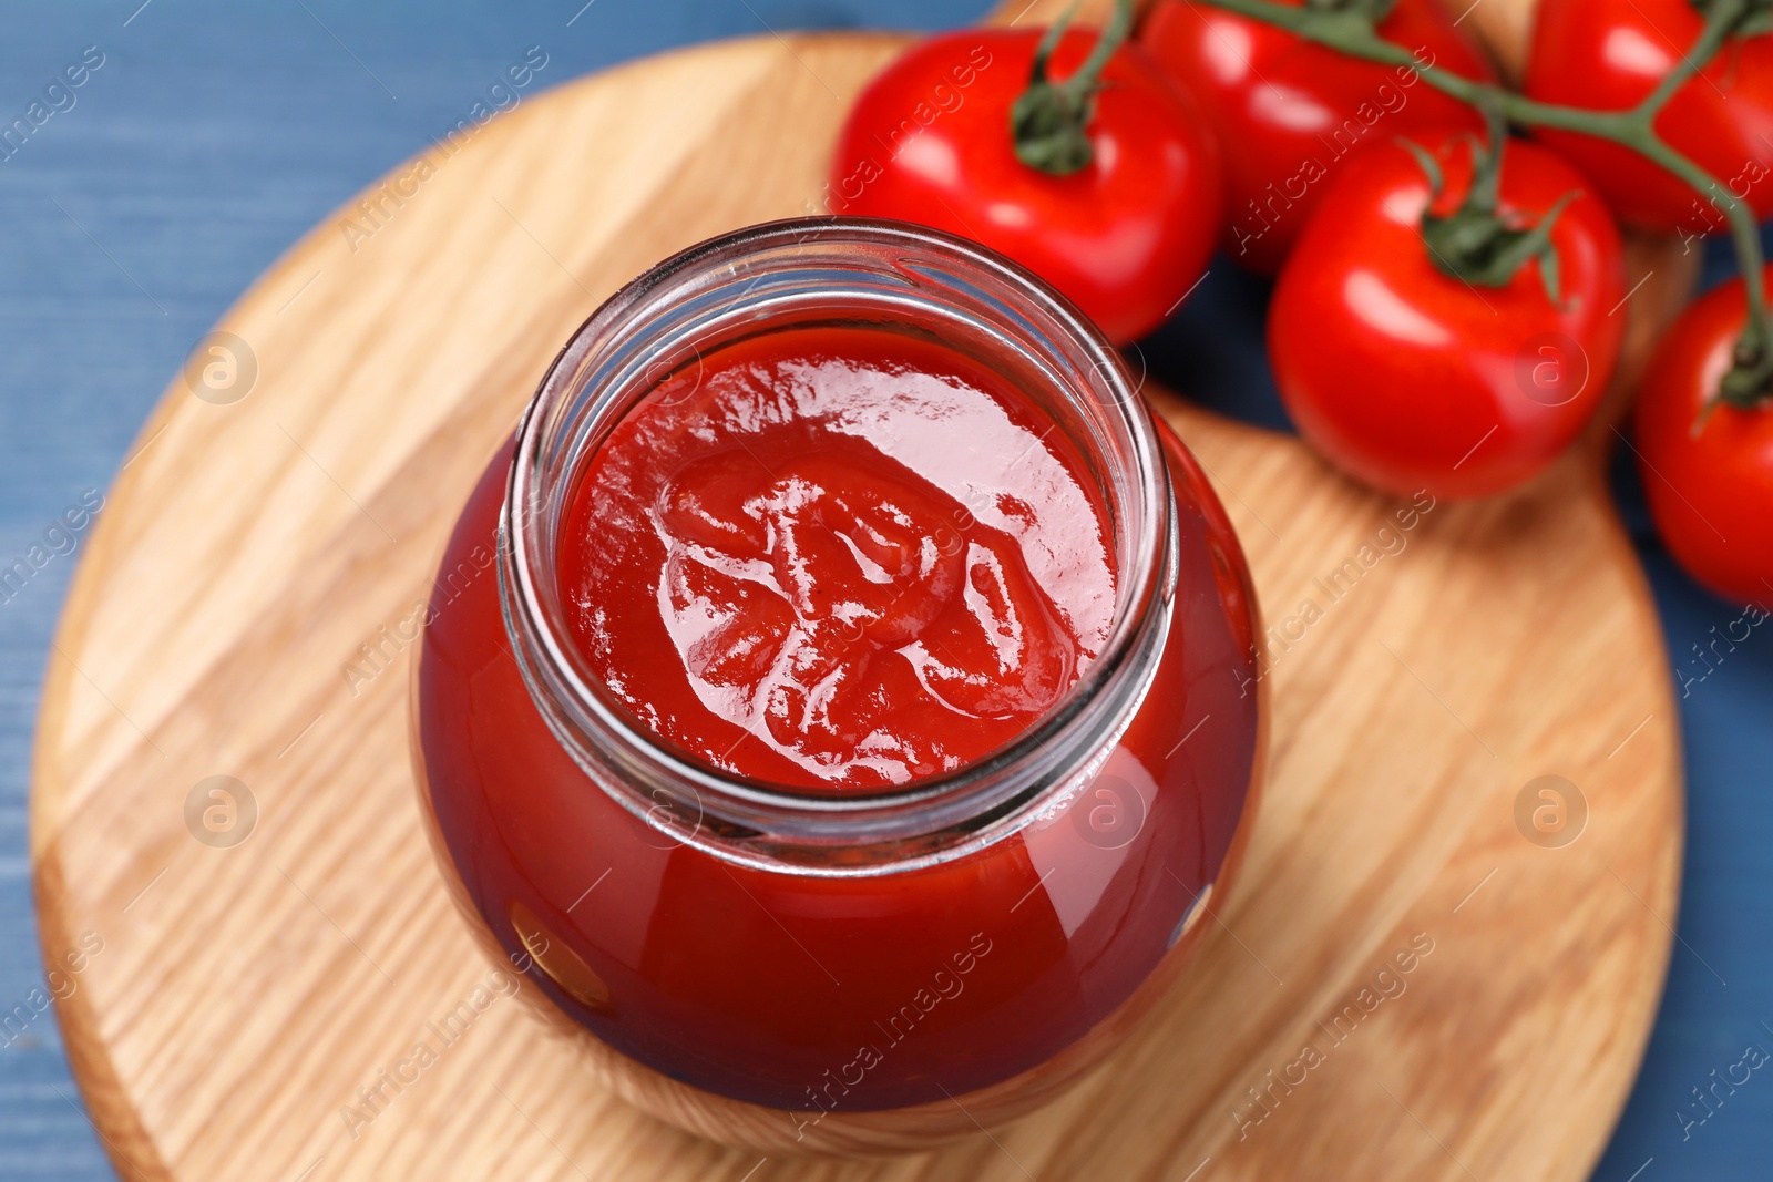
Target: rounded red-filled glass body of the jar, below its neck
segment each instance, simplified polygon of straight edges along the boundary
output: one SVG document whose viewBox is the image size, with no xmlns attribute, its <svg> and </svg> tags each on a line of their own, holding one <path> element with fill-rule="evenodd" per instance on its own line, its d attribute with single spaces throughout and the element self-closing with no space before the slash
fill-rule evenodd
<svg viewBox="0 0 1773 1182">
<path fill-rule="evenodd" d="M 619 1053 L 613 1070 L 631 1060 L 780 1109 L 796 1143 L 837 1115 L 1016 1081 L 993 1095 L 998 1118 L 1051 1095 L 1186 962 L 1255 805 L 1248 572 L 1199 468 L 1163 434 L 1181 555 L 1168 640 L 1094 782 L 963 858 L 858 877 L 725 861 L 635 817 L 573 762 L 500 615 L 505 448 L 450 539 L 415 680 L 422 796 L 470 920 Z"/>
</svg>

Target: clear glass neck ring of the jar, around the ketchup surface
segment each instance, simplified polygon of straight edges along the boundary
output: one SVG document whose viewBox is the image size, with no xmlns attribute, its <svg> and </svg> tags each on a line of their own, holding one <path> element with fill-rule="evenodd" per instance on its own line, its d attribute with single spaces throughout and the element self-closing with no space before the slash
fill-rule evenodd
<svg viewBox="0 0 1773 1182">
<path fill-rule="evenodd" d="M 601 684 L 566 624 L 557 539 L 587 461 L 665 377 L 801 324 L 917 331 L 996 367 L 1097 480 L 1115 610 L 1099 656 L 1018 741 L 957 771 L 842 794 L 720 771 L 661 741 Z M 794 220 L 693 246 L 612 296 L 560 351 L 518 429 L 500 517 L 500 606 L 537 711 L 660 844 L 796 874 L 885 874 L 1002 840 L 1080 792 L 1149 691 L 1177 569 L 1161 447 L 1121 356 L 1041 280 L 961 239 Z"/>
</svg>

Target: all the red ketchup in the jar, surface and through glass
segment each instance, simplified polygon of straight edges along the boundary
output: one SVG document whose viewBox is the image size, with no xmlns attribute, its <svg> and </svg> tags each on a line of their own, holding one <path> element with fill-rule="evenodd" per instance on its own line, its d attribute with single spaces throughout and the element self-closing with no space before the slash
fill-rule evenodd
<svg viewBox="0 0 1773 1182">
<path fill-rule="evenodd" d="M 1167 633 L 1094 783 L 980 849 L 835 877 L 684 844 L 555 739 L 491 562 L 507 447 L 445 551 L 417 680 L 422 792 L 465 900 L 605 1044 L 794 1120 L 947 1102 L 1085 1040 L 1200 934 L 1259 748 L 1248 574 L 1160 434 Z M 661 383 L 585 463 L 558 526 L 571 640 L 697 760 L 821 794 L 915 785 L 1014 741 L 1101 652 L 1099 487 L 956 351 L 759 335 Z"/>
</svg>

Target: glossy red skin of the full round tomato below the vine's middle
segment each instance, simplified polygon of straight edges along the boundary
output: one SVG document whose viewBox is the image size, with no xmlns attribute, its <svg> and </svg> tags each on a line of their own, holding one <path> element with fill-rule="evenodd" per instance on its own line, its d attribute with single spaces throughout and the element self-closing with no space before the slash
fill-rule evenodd
<svg viewBox="0 0 1773 1182">
<path fill-rule="evenodd" d="M 1472 177 L 1464 133 L 1425 138 L 1452 213 Z M 1567 191 L 1551 232 L 1562 307 L 1539 264 L 1505 287 L 1443 275 L 1418 225 L 1422 167 L 1376 145 L 1332 184 L 1287 259 L 1268 351 L 1294 424 L 1353 477 L 1395 494 L 1488 496 L 1562 452 L 1594 413 L 1619 356 L 1624 296 L 1619 229 L 1587 181 L 1550 149 L 1511 140 L 1500 213 L 1537 222 Z"/>
</svg>

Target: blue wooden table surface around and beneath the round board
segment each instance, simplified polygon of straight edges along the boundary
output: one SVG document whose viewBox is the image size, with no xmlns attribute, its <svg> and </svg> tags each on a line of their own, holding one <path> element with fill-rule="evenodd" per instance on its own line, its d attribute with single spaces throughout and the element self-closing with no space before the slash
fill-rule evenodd
<svg viewBox="0 0 1773 1182">
<path fill-rule="evenodd" d="M 544 83 L 553 85 L 690 41 L 771 28 L 933 28 L 984 7 L 5 4 L 0 128 L 27 119 L 32 131 L 0 140 L 0 567 L 44 540 L 87 489 L 108 486 L 190 346 L 278 252 L 454 126 L 528 46 L 550 55 Z M 64 73 L 69 66 L 76 74 Z M 66 85 L 71 76 L 82 85 Z M 1216 268 L 1202 294 L 1211 298 L 1191 299 L 1188 319 L 1151 342 L 1154 370 L 1229 413 L 1284 424 L 1261 353 L 1262 285 Z M 1773 1072 L 1755 1070 L 1734 1093 L 1718 1090 L 1714 1111 L 1697 1108 L 1693 1090 L 1711 1088 L 1748 1046 L 1773 1051 L 1773 633 L 1757 629 L 1722 665 L 1700 665 L 1695 647 L 1741 608 L 1670 565 L 1629 470 L 1617 486 L 1672 661 L 1693 679 L 1681 700 L 1690 829 L 1681 914 L 1665 916 L 1681 936 L 1668 992 L 1596 1178 L 1768 1178 Z M 14 1015 L 0 1033 L 0 1178 L 110 1178 L 53 1008 L 34 1015 L 28 1003 L 34 989 L 48 992 L 27 858 L 30 734 L 78 562 L 78 540 L 48 540 L 51 558 L 34 578 L 0 588 L 0 1021 Z M 1544 1106 L 1555 1118 L 1558 1097 Z"/>
</svg>

